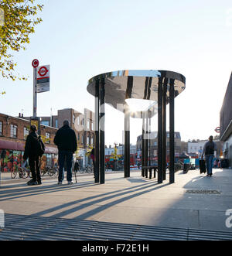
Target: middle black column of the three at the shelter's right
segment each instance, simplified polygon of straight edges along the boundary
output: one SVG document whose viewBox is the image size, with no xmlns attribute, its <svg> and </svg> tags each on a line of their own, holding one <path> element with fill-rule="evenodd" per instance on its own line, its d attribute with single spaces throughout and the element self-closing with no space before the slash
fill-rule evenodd
<svg viewBox="0 0 232 256">
<path fill-rule="evenodd" d="M 168 78 L 165 78 L 162 87 L 162 179 L 166 179 L 166 94 Z"/>
</svg>

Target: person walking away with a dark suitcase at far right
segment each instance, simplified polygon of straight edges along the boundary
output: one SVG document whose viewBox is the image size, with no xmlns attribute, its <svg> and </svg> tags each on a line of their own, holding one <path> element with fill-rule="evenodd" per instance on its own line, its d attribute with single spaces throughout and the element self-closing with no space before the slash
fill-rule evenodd
<svg viewBox="0 0 232 256">
<path fill-rule="evenodd" d="M 212 176 L 213 172 L 213 155 L 214 152 L 217 150 L 217 145 L 215 142 L 213 142 L 213 136 L 210 136 L 209 141 L 205 143 L 203 147 L 203 155 L 205 155 L 206 158 L 206 169 L 207 169 L 207 176 Z"/>
</svg>

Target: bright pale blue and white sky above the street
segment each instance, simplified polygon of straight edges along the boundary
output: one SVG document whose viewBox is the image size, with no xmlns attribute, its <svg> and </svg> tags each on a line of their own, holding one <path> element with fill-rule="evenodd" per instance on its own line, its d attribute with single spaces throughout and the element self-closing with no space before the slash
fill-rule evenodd
<svg viewBox="0 0 232 256">
<path fill-rule="evenodd" d="M 232 71 L 232 2 L 222 0 L 37 0 L 43 3 L 26 50 L 14 53 L 27 81 L 0 77 L 0 112 L 32 115 L 32 60 L 50 65 L 50 90 L 38 94 L 38 116 L 58 109 L 94 111 L 87 82 L 114 70 L 172 70 L 186 77 L 175 100 L 183 141 L 217 135 Z M 168 107 L 169 108 L 169 107 Z M 106 107 L 106 145 L 122 142 L 124 115 Z M 169 113 L 167 113 L 169 114 Z M 157 115 L 152 131 L 157 130 Z M 167 130 L 169 122 L 167 121 Z M 131 119 L 131 143 L 142 121 Z"/>
</svg>

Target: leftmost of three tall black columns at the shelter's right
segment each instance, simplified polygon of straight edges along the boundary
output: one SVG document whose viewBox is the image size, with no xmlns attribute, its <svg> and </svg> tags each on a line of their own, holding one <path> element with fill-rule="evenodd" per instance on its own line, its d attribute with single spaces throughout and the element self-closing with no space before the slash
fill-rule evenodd
<svg viewBox="0 0 232 256">
<path fill-rule="evenodd" d="M 159 77 L 158 84 L 158 183 L 162 183 L 162 77 Z"/>
</svg>

